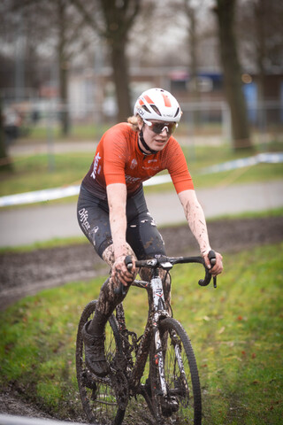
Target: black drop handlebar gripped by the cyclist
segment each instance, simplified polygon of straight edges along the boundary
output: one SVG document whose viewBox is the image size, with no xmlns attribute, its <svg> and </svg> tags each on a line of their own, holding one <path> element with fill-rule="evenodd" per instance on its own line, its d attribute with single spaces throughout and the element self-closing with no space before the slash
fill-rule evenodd
<svg viewBox="0 0 283 425">
<path fill-rule="evenodd" d="M 213 267 L 216 264 L 216 255 L 214 251 L 210 251 L 208 254 L 210 259 L 210 265 Z M 163 268 L 164 270 L 171 270 L 175 264 L 186 264 L 186 263 L 199 263 L 203 264 L 205 268 L 204 279 L 200 279 L 198 284 L 200 286 L 207 286 L 210 284 L 212 275 L 210 274 L 209 269 L 205 266 L 203 257 L 160 257 L 159 259 L 142 259 L 135 261 L 135 267 L 147 267 L 153 270 L 157 268 Z M 131 270 L 133 267 L 133 259 L 130 256 L 126 256 L 125 264 L 128 270 Z M 217 288 L 217 278 L 213 276 L 213 287 Z M 121 288 L 116 288 L 114 290 L 116 294 L 122 293 L 126 295 L 126 288 L 121 284 Z"/>
</svg>

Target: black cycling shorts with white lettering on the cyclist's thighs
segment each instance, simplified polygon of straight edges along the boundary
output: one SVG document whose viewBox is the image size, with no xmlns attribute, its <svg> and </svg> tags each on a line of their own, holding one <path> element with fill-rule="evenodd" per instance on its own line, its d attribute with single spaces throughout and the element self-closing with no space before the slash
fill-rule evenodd
<svg viewBox="0 0 283 425">
<path fill-rule="evenodd" d="M 103 258 L 103 251 L 112 243 L 107 200 L 95 197 L 81 185 L 77 214 L 81 230 Z M 163 238 L 149 214 L 142 189 L 127 198 L 126 219 L 126 242 L 137 259 L 165 255 Z"/>
</svg>

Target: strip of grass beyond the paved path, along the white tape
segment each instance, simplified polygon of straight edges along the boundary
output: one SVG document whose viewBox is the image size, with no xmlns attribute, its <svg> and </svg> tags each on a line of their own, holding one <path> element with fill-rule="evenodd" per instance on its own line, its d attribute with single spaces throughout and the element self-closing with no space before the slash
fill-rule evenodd
<svg viewBox="0 0 283 425">
<path fill-rule="evenodd" d="M 271 145 L 272 146 L 272 145 Z M 270 147 L 271 150 L 283 150 L 281 144 Z M 234 158 L 243 158 L 247 153 L 233 153 L 229 147 L 184 147 L 190 173 L 195 182 L 195 188 L 245 183 L 266 182 L 282 179 L 281 164 L 258 164 L 237 170 L 217 174 L 202 174 L 207 166 L 226 162 Z M 57 154 L 52 158 L 47 154 L 15 158 L 12 173 L 2 173 L 0 196 L 28 192 L 40 189 L 50 189 L 71 184 L 80 184 L 92 161 L 89 152 Z M 147 191 L 172 189 L 172 183 L 146 188 Z M 67 198 L 70 201 L 70 198 Z M 73 200 L 73 199 L 71 199 Z"/>
</svg>

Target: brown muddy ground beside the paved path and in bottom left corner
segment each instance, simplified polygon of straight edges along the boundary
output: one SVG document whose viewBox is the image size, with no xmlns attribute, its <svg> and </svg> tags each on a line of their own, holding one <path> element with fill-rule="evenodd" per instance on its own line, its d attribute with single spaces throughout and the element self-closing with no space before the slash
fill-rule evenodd
<svg viewBox="0 0 283 425">
<path fill-rule="evenodd" d="M 283 217 L 218 220 L 208 224 L 210 244 L 222 253 L 249 250 L 256 245 L 283 240 Z M 163 228 L 161 233 L 170 256 L 198 255 L 187 226 Z M 24 253 L 0 254 L 0 309 L 19 298 L 65 282 L 88 280 L 107 273 L 90 243 Z M 0 413 L 50 418 L 48 413 L 23 403 L 19 393 L 0 391 Z M 72 418 L 75 421 L 76 418 Z"/>
</svg>

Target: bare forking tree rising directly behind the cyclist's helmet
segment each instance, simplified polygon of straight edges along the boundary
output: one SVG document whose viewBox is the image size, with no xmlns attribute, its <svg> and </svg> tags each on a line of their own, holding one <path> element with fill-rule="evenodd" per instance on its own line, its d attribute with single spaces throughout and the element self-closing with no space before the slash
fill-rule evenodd
<svg viewBox="0 0 283 425">
<path fill-rule="evenodd" d="M 116 89 L 119 121 L 131 114 L 129 75 L 126 45 L 129 31 L 139 11 L 139 0 L 92 0 L 88 5 L 82 0 L 71 0 L 85 22 L 96 34 L 106 40 L 111 56 L 113 81 Z"/>
</svg>

